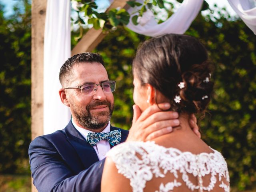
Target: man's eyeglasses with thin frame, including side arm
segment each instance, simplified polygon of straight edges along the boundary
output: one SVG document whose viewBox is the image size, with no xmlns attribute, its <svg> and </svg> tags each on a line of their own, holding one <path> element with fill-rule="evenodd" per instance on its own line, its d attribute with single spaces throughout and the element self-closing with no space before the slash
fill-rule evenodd
<svg viewBox="0 0 256 192">
<path fill-rule="evenodd" d="M 83 95 L 90 96 L 96 93 L 98 85 L 101 86 L 102 90 L 105 93 L 111 93 L 114 90 L 116 90 L 116 82 L 114 81 L 105 81 L 101 84 L 89 83 L 89 84 L 84 84 L 76 87 L 66 87 L 64 89 L 80 89 Z"/>
</svg>

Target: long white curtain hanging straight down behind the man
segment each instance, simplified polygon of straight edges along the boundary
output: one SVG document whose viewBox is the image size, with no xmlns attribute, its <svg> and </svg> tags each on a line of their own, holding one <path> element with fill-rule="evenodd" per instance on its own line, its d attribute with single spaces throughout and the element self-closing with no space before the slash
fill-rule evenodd
<svg viewBox="0 0 256 192">
<path fill-rule="evenodd" d="M 70 0 L 48 0 L 44 30 L 44 134 L 63 129 L 71 118 L 58 90 L 60 67 L 71 56 Z"/>
</svg>

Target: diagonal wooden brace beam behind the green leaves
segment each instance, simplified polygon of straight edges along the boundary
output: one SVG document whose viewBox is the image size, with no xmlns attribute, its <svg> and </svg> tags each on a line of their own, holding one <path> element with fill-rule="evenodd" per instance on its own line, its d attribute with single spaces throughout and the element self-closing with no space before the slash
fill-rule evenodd
<svg viewBox="0 0 256 192">
<path fill-rule="evenodd" d="M 127 0 L 114 0 L 106 12 L 117 7 L 125 8 L 127 5 L 126 1 Z M 102 29 L 95 30 L 94 28 L 91 28 L 73 48 L 72 56 L 82 52 L 92 52 L 92 50 L 96 48 L 96 46 L 104 39 L 105 36 L 106 33 L 104 34 Z"/>
</svg>

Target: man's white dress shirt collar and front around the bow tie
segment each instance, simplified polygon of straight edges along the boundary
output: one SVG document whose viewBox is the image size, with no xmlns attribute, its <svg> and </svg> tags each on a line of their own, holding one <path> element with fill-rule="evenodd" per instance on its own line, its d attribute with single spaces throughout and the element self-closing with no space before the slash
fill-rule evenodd
<svg viewBox="0 0 256 192">
<path fill-rule="evenodd" d="M 80 132 L 80 134 L 82 134 L 82 136 L 85 139 L 87 138 L 88 133 L 92 132 L 87 129 L 79 127 L 73 121 L 73 118 L 71 119 L 71 122 L 74 125 L 74 127 L 76 128 L 76 130 L 78 130 L 78 132 Z M 106 132 L 110 132 L 110 122 L 108 122 L 108 125 L 101 133 L 106 133 Z M 106 157 L 106 153 L 110 150 L 110 144 L 107 140 L 100 140 L 100 142 L 98 142 L 95 146 L 93 146 L 93 148 L 94 148 L 99 160 L 102 160 Z"/>
</svg>

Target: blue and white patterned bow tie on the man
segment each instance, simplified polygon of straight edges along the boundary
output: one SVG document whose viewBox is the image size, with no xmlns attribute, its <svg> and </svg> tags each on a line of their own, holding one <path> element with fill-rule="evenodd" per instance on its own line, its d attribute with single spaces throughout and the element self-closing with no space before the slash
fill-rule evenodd
<svg viewBox="0 0 256 192">
<path fill-rule="evenodd" d="M 121 131 L 114 130 L 107 133 L 88 133 L 86 141 L 91 145 L 95 146 L 100 140 L 108 140 L 108 142 L 114 146 L 120 143 L 121 141 Z"/>
</svg>

